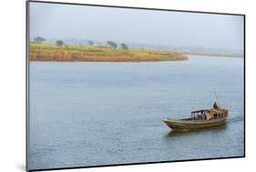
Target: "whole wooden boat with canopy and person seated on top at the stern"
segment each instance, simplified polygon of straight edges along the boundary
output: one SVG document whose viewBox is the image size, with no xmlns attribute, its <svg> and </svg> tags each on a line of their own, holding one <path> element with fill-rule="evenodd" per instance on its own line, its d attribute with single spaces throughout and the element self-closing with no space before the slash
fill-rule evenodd
<svg viewBox="0 0 256 172">
<path fill-rule="evenodd" d="M 216 103 L 210 109 L 192 111 L 189 118 L 166 119 L 163 122 L 174 131 L 188 131 L 225 123 L 229 110 L 220 108 Z"/>
</svg>

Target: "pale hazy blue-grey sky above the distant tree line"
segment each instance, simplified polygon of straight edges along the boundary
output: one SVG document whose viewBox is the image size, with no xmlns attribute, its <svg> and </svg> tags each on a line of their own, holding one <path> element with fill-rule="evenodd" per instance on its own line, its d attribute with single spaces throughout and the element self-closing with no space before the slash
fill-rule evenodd
<svg viewBox="0 0 256 172">
<path fill-rule="evenodd" d="M 30 36 L 243 49 L 241 15 L 30 3 Z"/>
</svg>

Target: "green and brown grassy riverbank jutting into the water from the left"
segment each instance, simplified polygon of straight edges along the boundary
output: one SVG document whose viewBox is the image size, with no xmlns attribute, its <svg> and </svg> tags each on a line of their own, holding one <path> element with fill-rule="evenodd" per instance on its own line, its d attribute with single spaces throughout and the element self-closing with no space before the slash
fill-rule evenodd
<svg viewBox="0 0 256 172">
<path fill-rule="evenodd" d="M 124 50 L 98 46 L 56 46 L 51 44 L 29 45 L 30 61 L 142 62 L 188 59 L 181 53 L 158 50 Z"/>
</svg>

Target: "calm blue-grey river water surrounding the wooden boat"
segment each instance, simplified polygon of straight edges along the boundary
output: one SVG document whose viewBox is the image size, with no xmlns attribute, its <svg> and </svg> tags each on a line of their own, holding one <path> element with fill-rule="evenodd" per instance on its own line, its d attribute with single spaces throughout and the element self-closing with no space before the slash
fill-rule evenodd
<svg viewBox="0 0 256 172">
<path fill-rule="evenodd" d="M 243 59 L 30 62 L 29 168 L 243 156 Z M 171 132 L 162 119 L 210 107 L 227 124 Z"/>
</svg>

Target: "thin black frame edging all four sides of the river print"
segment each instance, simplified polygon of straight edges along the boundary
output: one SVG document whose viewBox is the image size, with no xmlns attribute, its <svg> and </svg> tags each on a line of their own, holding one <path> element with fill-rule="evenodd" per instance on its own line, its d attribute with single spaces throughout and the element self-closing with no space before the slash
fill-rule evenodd
<svg viewBox="0 0 256 172">
<path fill-rule="evenodd" d="M 209 14 L 209 15 L 241 15 L 243 16 L 243 155 L 238 157 L 210 157 L 210 158 L 197 158 L 197 159 L 180 159 L 170 161 L 153 161 L 153 162 L 139 162 L 139 163 L 128 163 L 128 164 L 112 164 L 112 165 L 101 165 L 101 166 L 87 166 L 87 167 L 53 167 L 53 168 L 40 168 L 40 169 L 29 169 L 29 3 L 40 3 L 40 4 L 54 4 L 54 5 L 85 5 L 85 6 L 98 6 L 98 7 L 112 7 L 112 8 L 125 8 L 125 9 L 139 9 L 139 10 L 155 10 L 155 11 L 166 11 L 166 12 L 183 12 L 183 13 L 196 13 L 196 14 Z M 135 6 L 118 6 L 118 5 L 93 5 L 93 4 L 79 4 L 79 3 L 64 3 L 64 2 L 51 2 L 51 1 L 37 1 L 27 0 L 26 1 L 26 171 L 48 171 L 48 170 L 62 170 L 62 169 L 77 169 L 77 168 L 89 168 L 89 167 L 117 167 L 117 166 L 131 166 L 131 165 L 147 165 L 147 164 L 159 164 L 159 163 L 172 163 L 172 162 L 189 162 L 189 161 L 202 161 L 202 160 L 218 160 L 218 159 L 229 159 L 229 158 L 241 158 L 246 157 L 246 139 L 245 139 L 245 113 L 246 113 L 246 15 L 243 14 L 231 14 L 231 13 L 216 13 L 216 12 L 205 12 L 205 11 L 189 11 L 189 10 L 177 10 L 177 9 L 159 9 L 159 8 L 147 8 L 147 7 L 135 7 Z"/>
</svg>

